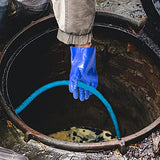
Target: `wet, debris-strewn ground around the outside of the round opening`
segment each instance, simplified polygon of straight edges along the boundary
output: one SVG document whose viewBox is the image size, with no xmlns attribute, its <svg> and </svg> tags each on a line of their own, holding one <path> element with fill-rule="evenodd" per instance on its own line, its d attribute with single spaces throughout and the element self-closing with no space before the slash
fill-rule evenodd
<svg viewBox="0 0 160 160">
<path fill-rule="evenodd" d="M 145 13 L 139 0 L 97 0 L 97 10 L 111 11 L 122 16 L 132 17 L 135 23 L 144 23 Z M 1 43 L 2 51 L 5 43 Z M 99 151 L 94 153 L 70 152 L 44 145 L 30 140 L 24 141 L 24 134 L 17 129 L 0 108 L 0 145 L 10 148 L 17 153 L 27 156 L 30 160 L 159 160 L 159 128 L 139 143 L 129 145 L 126 153 L 121 154 L 118 149 Z M 154 133 L 156 136 L 154 137 Z M 155 153 L 156 152 L 156 153 Z"/>
</svg>

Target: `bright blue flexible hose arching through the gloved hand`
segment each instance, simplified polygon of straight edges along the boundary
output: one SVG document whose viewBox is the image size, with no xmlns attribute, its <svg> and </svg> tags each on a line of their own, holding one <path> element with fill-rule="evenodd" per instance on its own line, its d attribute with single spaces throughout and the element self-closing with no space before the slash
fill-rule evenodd
<svg viewBox="0 0 160 160">
<path fill-rule="evenodd" d="M 44 92 L 44 91 L 46 91 L 50 88 L 53 88 L 53 87 L 56 87 L 56 86 L 63 86 L 63 85 L 69 85 L 69 81 L 68 80 L 55 81 L 55 82 L 51 82 L 51 83 L 48 83 L 48 84 L 42 86 L 41 88 L 39 88 L 35 92 L 33 92 L 19 107 L 17 107 L 15 109 L 15 112 L 17 114 L 19 114 L 23 109 L 25 109 L 42 92 Z M 78 87 L 81 87 L 81 88 L 84 88 L 84 89 L 90 91 L 91 93 L 93 93 L 95 96 L 97 96 L 103 102 L 103 104 L 107 108 L 107 110 L 110 114 L 110 117 L 112 119 L 117 138 L 120 138 L 121 137 L 120 136 L 120 130 L 119 130 L 119 126 L 118 126 L 116 116 L 115 116 L 115 114 L 112 110 L 111 105 L 107 102 L 107 100 L 103 97 L 103 95 L 98 90 L 96 90 L 95 88 L 93 88 L 89 85 L 86 85 L 85 83 L 82 83 L 82 82 L 78 82 Z"/>
</svg>

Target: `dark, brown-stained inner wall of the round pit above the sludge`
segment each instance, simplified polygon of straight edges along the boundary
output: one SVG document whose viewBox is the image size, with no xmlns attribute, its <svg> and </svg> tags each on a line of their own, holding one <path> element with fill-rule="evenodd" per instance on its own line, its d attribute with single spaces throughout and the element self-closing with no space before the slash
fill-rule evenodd
<svg viewBox="0 0 160 160">
<path fill-rule="evenodd" d="M 154 61 L 127 38 L 94 28 L 97 50 L 98 90 L 111 104 L 121 136 L 127 136 L 152 123 L 159 116 L 160 73 Z M 124 36 L 124 35 L 123 35 Z M 46 33 L 12 57 L 6 94 L 12 106 L 19 106 L 33 91 L 49 82 L 69 79 L 69 46 L 60 43 L 56 32 Z M 67 86 L 56 87 L 38 96 L 20 118 L 46 135 L 73 126 L 115 130 L 109 113 L 95 96 L 74 100 Z"/>
</svg>

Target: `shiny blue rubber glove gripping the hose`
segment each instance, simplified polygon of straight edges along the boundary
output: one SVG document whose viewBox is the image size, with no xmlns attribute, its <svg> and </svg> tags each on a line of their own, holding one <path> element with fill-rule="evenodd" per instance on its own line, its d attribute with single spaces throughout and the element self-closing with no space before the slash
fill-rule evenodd
<svg viewBox="0 0 160 160">
<path fill-rule="evenodd" d="M 98 84 L 96 71 L 96 49 L 95 47 L 70 47 L 71 50 L 71 72 L 69 80 L 69 91 L 75 99 L 81 101 L 88 99 L 91 93 L 83 88 L 77 87 L 78 81 L 94 88 Z"/>
</svg>

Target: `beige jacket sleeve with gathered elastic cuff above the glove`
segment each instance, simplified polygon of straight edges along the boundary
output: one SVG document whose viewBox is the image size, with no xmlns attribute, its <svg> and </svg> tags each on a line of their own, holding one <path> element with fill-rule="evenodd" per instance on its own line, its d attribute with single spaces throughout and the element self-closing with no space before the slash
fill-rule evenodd
<svg viewBox="0 0 160 160">
<path fill-rule="evenodd" d="M 52 0 L 59 30 L 65 44 L 86 44 L 92 40 L 95 0 Z"/>
</svg>

